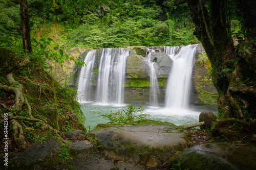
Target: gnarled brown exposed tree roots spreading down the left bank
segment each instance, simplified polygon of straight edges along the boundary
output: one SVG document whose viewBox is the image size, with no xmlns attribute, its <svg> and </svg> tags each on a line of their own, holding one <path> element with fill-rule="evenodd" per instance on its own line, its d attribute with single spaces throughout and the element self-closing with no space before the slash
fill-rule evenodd
<svg viewBox="0 0 256 170">
<path fill-rule="evenodd" d="M 10 112 L 10 113 L 8 113 L 8 116 L 9 116 L 9 122 L 10 122 L 10 124 L 12 126 L 12 130 L 13 130 L 14 141 L 15 141 L 18 149 L 26 149 L 26 147 L 27 147 L 27 142 L 26 142 L 26 139 L 24 136 L 24 131 L 23 131 L 22 125 L 25 128 L 27 128 L 27 126 L 23 122 L 19 123 L 17 120 L 28 120 L 28 121 L 32 121 L 32 122 L 40 122 L 40 123 L 42 123 L 42 125 L 41 125 L 42 130 L 51 129 L 54 132 L 56 132 L 57 134 L 59 134 L 59 132 L 57 130 L 53 129 L 50 125 L 46 124 L 43 120 L 34 118 L 32 116 L 31 106 L 29 105 L 29 102 L 28 102 L 26 96 L 23 94 L 23 85 L 16 82 L 11 73 L 7 75 L 7 80 L 12 86 L 0 84 L 0 89 L 5 90 L 6 92 L 15 93 L 15 104 L 13 106 L 14 107 L 13 109 L 16 110 L 16 114 L 14 115 Z M 18 115 L 18 113 L 22 110 L 22 107 L 25 102 L 28 107 L 28 117 Z M 4 105 L 3 103 L 1 103 L 0 105 L 10 111 L 13 110 L 13 109 L 7 108 L 6 105 Z M 32 135 L 34 137 L 36 137 L 36 135 L 34 133 L 32 133 Z"/>
</svg>

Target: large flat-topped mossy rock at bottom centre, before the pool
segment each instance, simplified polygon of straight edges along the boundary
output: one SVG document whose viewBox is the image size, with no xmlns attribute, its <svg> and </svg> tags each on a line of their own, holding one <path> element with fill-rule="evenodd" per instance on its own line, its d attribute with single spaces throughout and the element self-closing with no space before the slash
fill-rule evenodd
<svg viewBox="0 0 256 170">
<path fill-rule="evenodd" d="M 187 149 L 187 134 L 168 125 L 116 126 L 93 130 L 104 156 L 155 167 Z"/>
</svg>

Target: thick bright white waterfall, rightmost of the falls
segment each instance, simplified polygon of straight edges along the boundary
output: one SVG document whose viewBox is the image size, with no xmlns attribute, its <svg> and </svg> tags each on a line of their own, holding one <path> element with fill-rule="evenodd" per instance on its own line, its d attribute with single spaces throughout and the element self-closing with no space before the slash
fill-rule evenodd
<svg viewBox="0 0 256 170">
<path fill-rule="evenodd" d="M 167 108 L 188 107 L 196 47 L 197 44 L 183 46 L 178 54 L 170 55 L 173 66 L 165 93 L 165 107 Z"/>
</svg>

